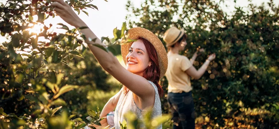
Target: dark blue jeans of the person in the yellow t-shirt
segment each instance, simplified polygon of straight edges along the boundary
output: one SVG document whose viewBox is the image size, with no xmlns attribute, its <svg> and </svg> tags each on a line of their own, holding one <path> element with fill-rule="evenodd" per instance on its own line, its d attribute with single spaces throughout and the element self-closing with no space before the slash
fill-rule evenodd
<svg viewBox="0 0 279 129">
<path fill-rule="evenodd" d="M 167 101 L 173 113 L 173 129 L 194 129 L 195 112 L 192 91 L 168 93 Z"/>
</svg>

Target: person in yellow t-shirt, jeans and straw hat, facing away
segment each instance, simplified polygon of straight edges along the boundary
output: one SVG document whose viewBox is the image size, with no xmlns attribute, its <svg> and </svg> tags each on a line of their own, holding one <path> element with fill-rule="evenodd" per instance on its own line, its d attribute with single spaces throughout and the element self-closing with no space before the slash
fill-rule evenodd
<svg viewBox="0 0 279 129">
<path fill-rule="evenodd" d="M 196 51 L 189 60 L 179 52 L 185 49 L 187 35 L 184 30 L 176 27 L 169 28 L 163 40 L 169 50 L 168 69 L 166 77 L 169 82 L 167 101 L 173 112 L 173 129 L 176 128 L 195 128 L 194 102 L 192 97 L 192 87 L 190 77 L 199 79 L 206 71 L 209 63 L 215 59 L 215 54 L 209 55 L 202 67 L 196 70 L 193 62 L 197 57 Z M 203 49 L 199 50 L 203 52 Z"/>
</svg>

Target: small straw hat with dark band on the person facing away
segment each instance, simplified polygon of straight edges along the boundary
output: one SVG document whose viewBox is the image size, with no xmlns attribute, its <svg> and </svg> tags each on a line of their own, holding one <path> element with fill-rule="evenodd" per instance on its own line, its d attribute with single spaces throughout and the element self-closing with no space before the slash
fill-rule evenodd
<svg viewBox="0 0 279 129">
<path fill-rule="evenodd" d="M 179 30 L 173 26 L 165 32 L 163 40 L 166 42 L 166 46 L 168 47 L 175 44 L 183 35 L 186 35 L 184 30 Z"/>
</svg>

